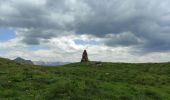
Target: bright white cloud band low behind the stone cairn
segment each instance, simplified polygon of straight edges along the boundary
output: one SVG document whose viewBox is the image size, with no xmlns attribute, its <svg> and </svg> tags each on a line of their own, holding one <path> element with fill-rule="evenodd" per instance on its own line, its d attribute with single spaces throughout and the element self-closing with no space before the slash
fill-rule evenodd
<svg viewBox="0 0 170 100">
<path fill-rule="evenodd" d="M 15 57 L 23 57 L 33 61 L 65 61 L 79 62 L 82 52 L 88 46 L 89 59 L 91 61 L 107 61 L 107 62 L 166 62 L 169 61 L 170 52 L 166 53 L 149 53 L 145 55 L 132 55 L 129 47 L 108 47 L 103 44 L 99 45 L 76 45 L 74 39 L 85 39 L 88 36 L 63 36 L 50 39 L 44 43 L 48 49 L 30 50 L 28 46 L 19 43 L 18 39 L 12 39 L 4 43 L 0 43 L 2 48 L 8 52 L 1 54 L 6 58 L 14 59 Z M 98 39 L 98 38 L 97 38 Z M 23 49 L 24 48 L 24 49 Z"/>
</svg>

